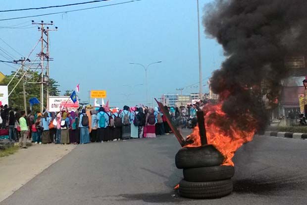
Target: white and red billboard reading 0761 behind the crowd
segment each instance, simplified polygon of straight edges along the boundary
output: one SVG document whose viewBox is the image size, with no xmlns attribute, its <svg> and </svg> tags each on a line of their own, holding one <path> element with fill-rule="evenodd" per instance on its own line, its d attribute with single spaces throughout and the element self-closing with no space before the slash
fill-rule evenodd
<svg viewBox="0 0 307 205">
<path fill-rule="evenodd" d="M 50 96 L 49 97 L 49 112 L 59 112 L 61 109 L 68 111 L 76 111 L 79 108 L 79 101 L 75 103 L 70 99 L 70 96 Z"/>
</svg>

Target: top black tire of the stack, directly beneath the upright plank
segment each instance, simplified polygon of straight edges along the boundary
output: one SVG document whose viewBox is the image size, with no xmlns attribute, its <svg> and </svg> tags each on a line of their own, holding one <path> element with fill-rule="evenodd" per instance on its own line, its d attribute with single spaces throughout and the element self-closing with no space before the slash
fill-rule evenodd
<svg viewBox="0 0 307 205">
<path fill-rule="evenodd" d="M 213 145 L 184 147 L 175 156 L 178 169 L 218 166 L 223 161 L 223 155 Z"/>
</svg>

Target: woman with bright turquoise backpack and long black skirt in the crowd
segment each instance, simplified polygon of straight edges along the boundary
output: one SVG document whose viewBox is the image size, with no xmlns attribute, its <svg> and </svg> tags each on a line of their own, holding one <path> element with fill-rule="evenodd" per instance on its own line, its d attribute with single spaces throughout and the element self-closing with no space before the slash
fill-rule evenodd
<svg viewBox="0 0 307 205">
<path fill-rule="evenodd" d="M 107 132 L 107 126 L 108 126 L 109 116 L 105 113 L 104 108 L 99 108 L 99 113 L 97 114 L 97 127 L 98 127 L 98 137 L 99 141 L 102 143 L 104 141 L 107 141 L 108 139 L 108 132 Z"/>
</svg>

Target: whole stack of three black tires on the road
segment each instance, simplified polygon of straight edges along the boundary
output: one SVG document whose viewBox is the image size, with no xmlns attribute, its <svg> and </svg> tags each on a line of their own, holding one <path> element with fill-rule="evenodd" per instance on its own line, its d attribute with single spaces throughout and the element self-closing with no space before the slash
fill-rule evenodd
<svg viewBox="0 0 307 205">
<path fill-rule="evenodd" d="M 221 198 L 233 190 L 233 166 L 222 166 L 223 155 L 212 145 L 181 148 L 175 157 L 176 167 L 183 169 L 179 194 L 192 199 Z"/>
</svg>

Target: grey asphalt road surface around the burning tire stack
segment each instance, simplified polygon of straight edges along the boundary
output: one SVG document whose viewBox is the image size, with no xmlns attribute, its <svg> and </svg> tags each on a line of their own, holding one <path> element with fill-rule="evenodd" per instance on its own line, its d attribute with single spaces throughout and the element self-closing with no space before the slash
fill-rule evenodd
<svg viewBox="0 0 307 205">
<path fill-rule="evenodd" d="M 214 200 L 173 190 L 183 177 L 174 164 L 179 148 L 172 135 L 78 145 L 0 204 L 307 204 L 307 140 L 254 137 L 235 155 L 234 192 Z"/>
</svg>

